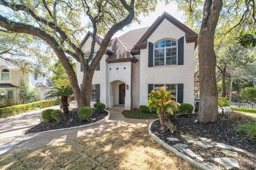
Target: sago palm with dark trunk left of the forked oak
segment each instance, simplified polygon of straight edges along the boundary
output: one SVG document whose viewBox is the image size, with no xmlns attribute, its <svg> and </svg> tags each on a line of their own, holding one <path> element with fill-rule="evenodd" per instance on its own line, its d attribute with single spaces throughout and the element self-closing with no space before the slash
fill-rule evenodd
<svg viewBox="0 0 256 170">
<path fill-rule="evenodd" d="M 68 114 L 68 96 L 72 95 L 73 91 L 70 86 L 68 87 L 53 87 L 45 93 L 46 99 L 53 97 L 60 97 L 63 113 Z"/>
</svg>

